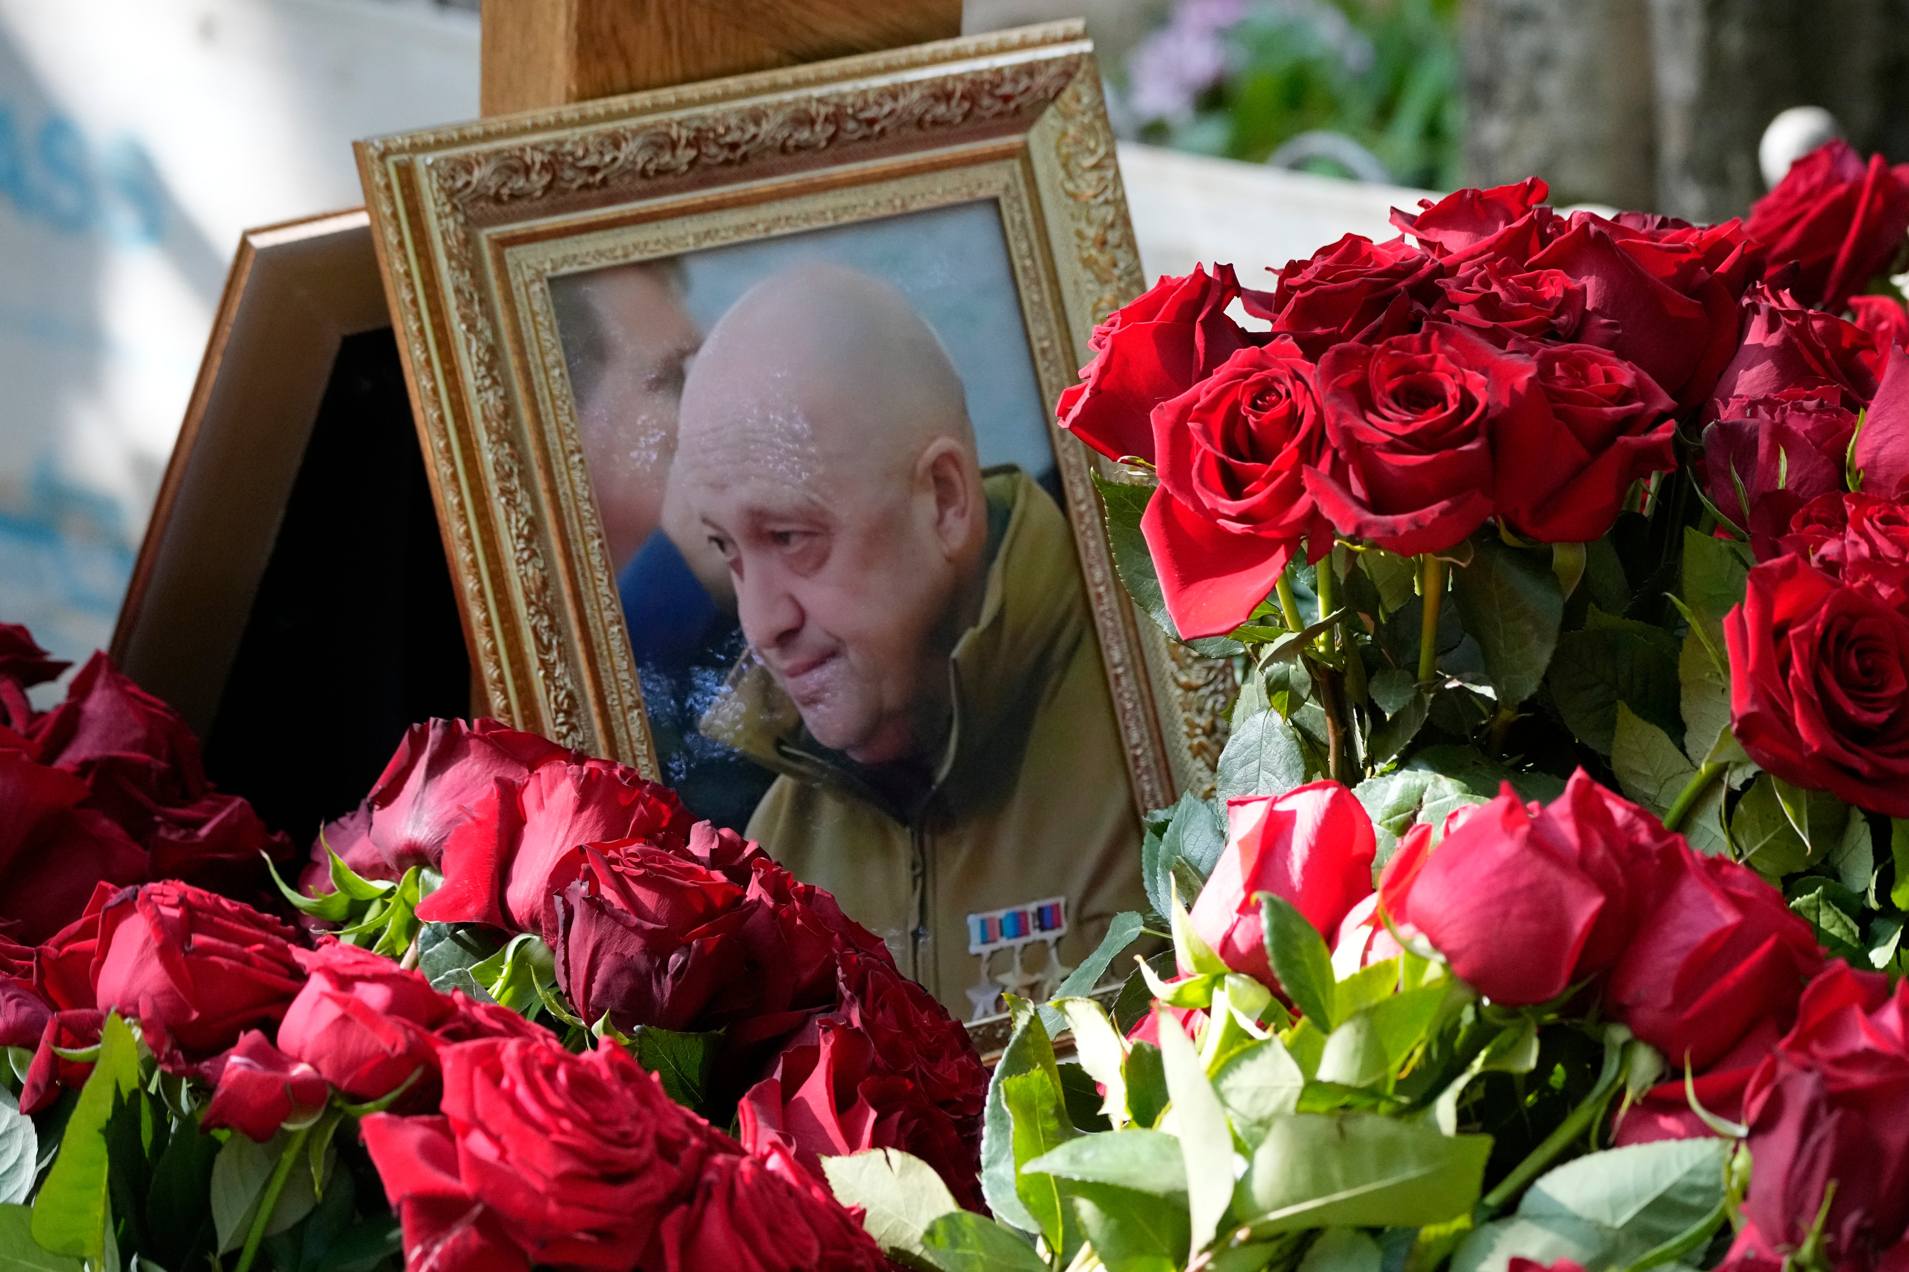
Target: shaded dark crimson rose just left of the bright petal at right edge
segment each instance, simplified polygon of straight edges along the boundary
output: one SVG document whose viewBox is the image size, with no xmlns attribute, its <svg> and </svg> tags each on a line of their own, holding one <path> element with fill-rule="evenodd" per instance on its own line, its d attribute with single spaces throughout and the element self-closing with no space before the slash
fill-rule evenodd
<svg viewBox="0 0 1909 1272">
<path fill-rule="evenodd" d="M 1835 397 L 1817 397 L 1821 389 L 1829 385 L 1731 399 L 1722 418 L 1703 431 L 1699 477 L 1705 492 L 1716 511 L 1751 532 L 1758 557 L 1775 549 L 1775 536 L 1789 528 L 1796 509 L 1819 494 L 1842 490 L 1856 416 Z"/>
</svg>

